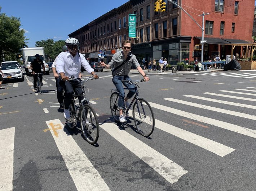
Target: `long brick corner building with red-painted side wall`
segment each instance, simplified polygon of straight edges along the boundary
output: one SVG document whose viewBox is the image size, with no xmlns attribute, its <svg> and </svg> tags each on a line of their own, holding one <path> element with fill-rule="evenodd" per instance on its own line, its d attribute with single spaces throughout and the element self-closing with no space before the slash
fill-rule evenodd
<svg viewBox="0 0 256 191">
<path fill-rule="evenodd" d="M 91 23 L 69 34 L 78 38 L 80 52 L 91 61 L 97 60 L 100 50 L 105 51 L 105 61 L 119 51 L 122 41 L 128 37 L 128 14 L 136 14 L 137 39 L 132 40 L 132 52 L 139 62 L 145 59 L 168 59 L 169 64 L 193 61 L 200 58 L 201 28 L 171 2 L 166 2 L 165 12 L 154 12 L 154 0 L 130 0 L 118 8 L 96 18 Z M 219 54 L 231 54 L 228 43 L 252 42 L 254 0 L 175 0 L 180 3 L 202 26 L 205 16 L 204 58 Z M 237 46 L 234 50 L 240 57 L 245 47 Z"/>
</svg>

